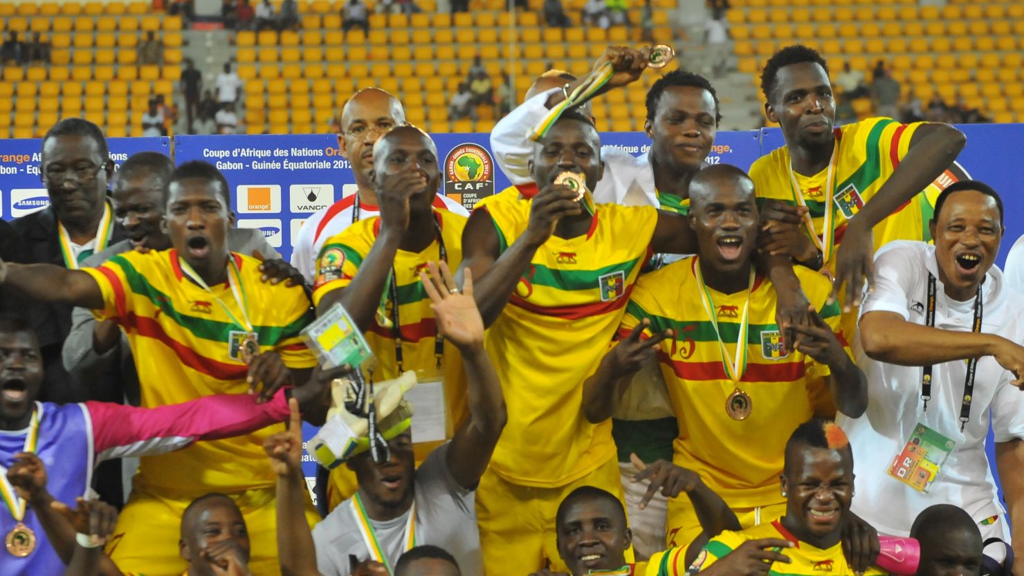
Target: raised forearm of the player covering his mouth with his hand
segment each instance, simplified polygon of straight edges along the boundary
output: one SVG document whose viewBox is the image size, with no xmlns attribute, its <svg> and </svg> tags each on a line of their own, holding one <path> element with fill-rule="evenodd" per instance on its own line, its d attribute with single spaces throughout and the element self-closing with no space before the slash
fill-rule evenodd
<svg viewBox="0 0 1024 576">
<path fill-rule="evenodd" d="M 359 264 L 352 281 L 340 289 L 327 293 L 316 304 L 316 312 L 323 314 L 332 306 L 341 303 L 352 316 L 360 330 L 367 330 L 384 294 L 394 256 L 398 252 L 406 229 L 409 227 L 409 198 L 422 191 L 426 182 L 418 172 L 402 172 L 387 176 L 378 190 L 381 204 L 381 229 L 373 248 Z M 323 256 L 332 250 L 330 240 L 321 251 Z M 323 263 L 317 263 L 317 267 Z"/>
</svg>

